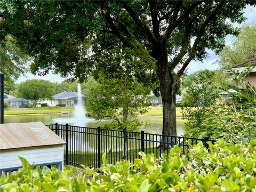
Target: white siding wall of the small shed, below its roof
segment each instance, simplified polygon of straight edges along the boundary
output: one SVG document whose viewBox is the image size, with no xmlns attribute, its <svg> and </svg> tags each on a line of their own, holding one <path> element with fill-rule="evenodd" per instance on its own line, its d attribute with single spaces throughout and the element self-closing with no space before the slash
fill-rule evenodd
<svg viewBox="0 0 256 192">
<path fill-rule="evenodd" d="M 22 166 L 18 156 L 26 158 L 30 164 L 62 162 L 63 167 L 63 149 L 63 146 L 53 146 L 1 151 L 0 169 Z"/>
</svg>

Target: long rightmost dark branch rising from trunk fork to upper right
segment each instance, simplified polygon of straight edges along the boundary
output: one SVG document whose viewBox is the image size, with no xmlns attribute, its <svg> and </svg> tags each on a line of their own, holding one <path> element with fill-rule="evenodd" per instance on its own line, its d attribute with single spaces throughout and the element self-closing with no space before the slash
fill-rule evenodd
<svg viewBox="0 0 256 192">
<path fill-rule="evenodd" d="M 202 24 L 201 28 L 199 29 L 198 35 L 195 39 L 195 42 L 193 44 L 192 47 L 192 51 L 189 55 L 189 58 L 185 61 L 185 63 L 183 63 L 182 67 L 180 68 L 180 70 L 177 72 L 176 75 L 176 83 L 178 82 L 180 76 L 183 74 L 184 70 L 187 68 L 189 62 L 194 59 L 195 55 L 196 55 L 196 50 L 197 50 L 197 45 L 199 44 L 204 32 L 205 32 L 205 28 L 207 27 L 207 25 L 209 24 L 209 22 L 214 18 L 215 14 L 221 9 L 221 7 L 226 4 L 226 1 L 221 1 L 219 3 L 219 5 L 209 14 L 209 16 L 205 19 L 204 23 Z"/>
</svg>

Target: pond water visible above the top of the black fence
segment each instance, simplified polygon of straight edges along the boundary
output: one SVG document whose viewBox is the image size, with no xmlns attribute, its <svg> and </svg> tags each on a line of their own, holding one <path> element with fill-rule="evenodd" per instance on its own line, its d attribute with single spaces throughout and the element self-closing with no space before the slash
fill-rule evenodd
<svg viewBox="0 0 256 192">
<path fill-rule="evenodd" d="M 139 117 L 143 122 L 146 122 L 148 126 L 144 130 L 146 133 L 162 134 L 162 117 Z M 72 114 L 61 115 L 61 114 L 51 114 L 51 115 L 15 115 L 15 116 L 4 116 L 4 123 L 25 123 L 25 122 L 42 122 L 44 124 L 70 124 L 76 126 L 85 127 L 98 127 L 103 126 L 107 121 L 102 121 L 97 123 L 95 119 L 86 117 L 82 121 L 77 121 L 72 118 Z M 185 125 L 183 120 L 177 119 L 177 134 L 182 135 L 185 131 Z M 139 130 L 140 131 L 140 130 Z"/>
</svg>

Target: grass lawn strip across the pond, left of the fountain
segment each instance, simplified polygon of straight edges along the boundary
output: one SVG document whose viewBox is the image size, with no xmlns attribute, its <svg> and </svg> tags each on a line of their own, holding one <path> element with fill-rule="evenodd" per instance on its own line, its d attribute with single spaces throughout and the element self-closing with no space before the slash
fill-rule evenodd
<svg viewBox="0 0 256 192">
<path fill-rule="evenodd" d="M 74 111 L 74 107 L 4 108 L 4 115 L 47 114 Z"/>
</svg>

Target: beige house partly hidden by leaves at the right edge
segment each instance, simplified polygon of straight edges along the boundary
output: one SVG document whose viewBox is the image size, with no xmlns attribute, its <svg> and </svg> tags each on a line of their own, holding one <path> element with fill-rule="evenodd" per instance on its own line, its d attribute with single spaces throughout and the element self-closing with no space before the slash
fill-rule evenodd
<svg viewBox="0 0 256 192">
<path fill-rule="evenodd" d="M 252 86 L 256 87 L 256 58 L 239 63 L 238 65 L 234 66 L 233 69 L 236 71 L 243 71 L 248 65 L 255 66 L 255 68 L 249 74 L 247 82 L 249 82 Z"/>
</svg>

